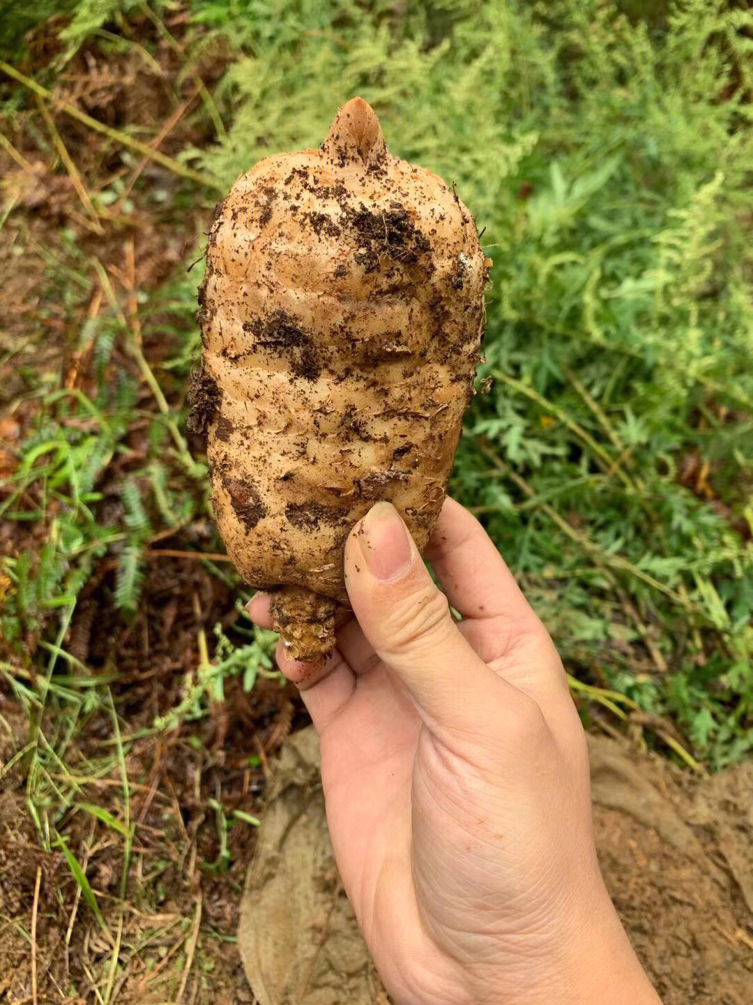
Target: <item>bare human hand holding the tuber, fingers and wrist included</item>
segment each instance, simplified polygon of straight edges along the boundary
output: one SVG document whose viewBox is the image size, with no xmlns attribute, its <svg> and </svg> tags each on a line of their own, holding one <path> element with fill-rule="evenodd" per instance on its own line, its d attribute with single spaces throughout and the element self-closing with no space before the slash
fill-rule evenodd
<svg viewBox="0 0 753 1005">
<path fill-rule="evenodd" d="M 480 524 L 427 549 L 374 506 L 345 547 L 333 657 L 278 663 L 319 733 L 334 855 L 399 1005 L 657 1005 L 604 888 L 561 661 Z M 251 617 L 270 625 L 268 598 Z"/>
</svg>

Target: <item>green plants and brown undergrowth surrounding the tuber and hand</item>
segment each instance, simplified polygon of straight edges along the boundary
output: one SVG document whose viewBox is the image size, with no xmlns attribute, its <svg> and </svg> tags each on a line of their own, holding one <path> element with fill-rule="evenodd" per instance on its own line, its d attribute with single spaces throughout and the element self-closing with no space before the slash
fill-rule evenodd
<svg viewBox="0 0 753 1005">
<path fill-rule="evenodd" d="M 11 0 L 0 60 L 0 781 L 110 940 L 72 984 L 113 999 L 135 863 L 152 910 L 185 865 L 173 824 L 137 832 L 170 759 L 196 768 L 174 821 L 193 867 L 237 885 L 243 806 L 304 721 L 242 613 L 184 397 L 215 201 L 352 94 L 483 228 L 486 360 L 450 490 L 584 720 L 696 771 L 750 751 L 749 3 Z M 59 881 L 40 862 L 19 896 Z"/>
</svg>

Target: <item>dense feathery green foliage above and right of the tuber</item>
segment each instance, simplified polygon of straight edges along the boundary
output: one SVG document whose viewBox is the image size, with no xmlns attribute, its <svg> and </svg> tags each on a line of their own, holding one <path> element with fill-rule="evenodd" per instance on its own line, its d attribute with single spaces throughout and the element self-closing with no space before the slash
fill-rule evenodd
<svg viewBox="0 0 753 1005">
<path fill-rule="evenodd" d="M 457 182 L 494 259 L 492 390 L 451 489 L 568 665 L 715 765 L 753 746 L 753 13 L 728 8 L 202 4 L 245 57 L 227 135 L 183 155 L 230 185 L 360 93 Z"/>
</svg>

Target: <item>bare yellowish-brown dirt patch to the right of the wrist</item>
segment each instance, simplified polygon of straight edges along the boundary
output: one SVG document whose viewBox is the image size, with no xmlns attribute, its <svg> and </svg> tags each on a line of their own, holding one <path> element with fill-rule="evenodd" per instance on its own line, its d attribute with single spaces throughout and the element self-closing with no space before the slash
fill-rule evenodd
<svg viewBox="0 0 753 1005">
<path fill-rule="evenodd" d="M 749 1005 L 753 763 L 706 779 L 590 741 L 606 885 L 665 1005 Z"/>
</svg>

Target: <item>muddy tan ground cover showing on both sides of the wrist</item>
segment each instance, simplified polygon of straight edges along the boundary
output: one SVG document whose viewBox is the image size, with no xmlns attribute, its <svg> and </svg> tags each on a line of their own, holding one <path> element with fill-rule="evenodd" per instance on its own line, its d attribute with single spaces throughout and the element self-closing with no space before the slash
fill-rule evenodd
<svg viewBox="0 0 753 1005">
<path fill-rule="evenodd" d="M 612 740 L 590 752 L 604 878 L 665 1005 L 747 1005 L 753 763 L 697 779 Z M 238 944 L 260 1005 L 388 1001 L 337 880 L 311 729 L 278 762 Z"/>
</svg>

